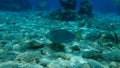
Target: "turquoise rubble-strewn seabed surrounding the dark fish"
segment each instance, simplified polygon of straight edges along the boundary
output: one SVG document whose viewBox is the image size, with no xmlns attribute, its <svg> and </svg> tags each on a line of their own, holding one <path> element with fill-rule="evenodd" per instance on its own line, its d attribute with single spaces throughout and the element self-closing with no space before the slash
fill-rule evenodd
<svg viewBox="0 0 120 68">
<path fill-rule="evenodd" d="M 80 38 L 54 44 L 52 29 Z M 51 20 L 44 12 L 0 11 L 0 68 L 120 68 L 120 16 Z"/>
</svg>

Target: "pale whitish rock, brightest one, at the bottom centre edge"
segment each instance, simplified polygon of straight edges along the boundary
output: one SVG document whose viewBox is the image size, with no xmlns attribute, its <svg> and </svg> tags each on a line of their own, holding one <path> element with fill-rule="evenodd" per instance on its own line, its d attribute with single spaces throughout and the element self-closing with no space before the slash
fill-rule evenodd
<svg viewBox="0 0 120 68">
<path fill-rule="evenodd" d="M 71 56 L 69 59 L 58 57 L 56 60 L 48 64 L 48 68 L 80 68 L 81 64 L 84 63 L 87 63 L 87 61 L 78 56 Z"/>
</svg>

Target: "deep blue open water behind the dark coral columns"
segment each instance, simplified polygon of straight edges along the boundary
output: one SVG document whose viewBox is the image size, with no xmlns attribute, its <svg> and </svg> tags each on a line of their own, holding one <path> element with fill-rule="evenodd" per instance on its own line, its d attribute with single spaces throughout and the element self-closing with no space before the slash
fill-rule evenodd
<svg viewBox="0 0 120 68">
<path fill-rule="evenodd" d="M 59 0 L 45 0 L 47 3 L 46 7 L 40 6 L 40 2 L 43 0 L 30 0 L 30 1 L 33 8 L 37 8 L 40 10 L 50 10 L 50 9 L 61 8 L 59 4 Z M 76 10 L 79 9 L 80 1 L 81 0 L 77 0 Z M 116 4 L 115 2 L 113 2 L 113 0 L 91 0 L 91 2 L 93 4 L 94 11 L 99 11 L 102 13 L 116 12 Z"/>
</svg>

